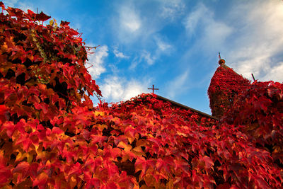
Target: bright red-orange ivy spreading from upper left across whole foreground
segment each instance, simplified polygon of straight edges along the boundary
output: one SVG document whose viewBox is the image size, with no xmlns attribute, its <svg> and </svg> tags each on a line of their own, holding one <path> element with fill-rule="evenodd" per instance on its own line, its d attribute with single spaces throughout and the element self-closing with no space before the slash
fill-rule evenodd
<svg viewBox="0 0 283 189">
<path fill-rule="evenodd" d="M 270 152 L 234 125 L 146 94 L 93 108 L 78 33 L 0 6 L 0 187 L 281 186 Z"/>
</svg>

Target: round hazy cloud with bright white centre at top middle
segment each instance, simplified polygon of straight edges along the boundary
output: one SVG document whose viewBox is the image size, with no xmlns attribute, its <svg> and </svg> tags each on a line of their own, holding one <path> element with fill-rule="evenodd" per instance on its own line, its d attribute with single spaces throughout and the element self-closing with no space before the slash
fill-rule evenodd
<svg viewBox="0 0 283 189">
<path fill-rule="evenodd" d="M 169 3 L 168 3 L 169 4 Z M 152 39 L 168 21 L 160 16 L 161 6 L 150 7 L 146 1 L 127 1 L 117 6 L 117 14 L 112 17 L 112 31 L 121 44 L 149 49 Z"/>
</svg>

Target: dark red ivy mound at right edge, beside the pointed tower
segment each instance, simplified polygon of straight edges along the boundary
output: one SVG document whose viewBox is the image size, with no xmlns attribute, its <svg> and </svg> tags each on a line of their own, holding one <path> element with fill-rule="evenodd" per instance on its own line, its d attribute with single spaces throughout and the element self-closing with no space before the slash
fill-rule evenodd
<svg viewBox="0 0 283 189">
<path fill-rule="evenodd" d="M 223 121 L 236 125 L 257 147 L 269 150 L 283 167 L 283 84 L 254 82 L 236 98 Z"/>
</svg>

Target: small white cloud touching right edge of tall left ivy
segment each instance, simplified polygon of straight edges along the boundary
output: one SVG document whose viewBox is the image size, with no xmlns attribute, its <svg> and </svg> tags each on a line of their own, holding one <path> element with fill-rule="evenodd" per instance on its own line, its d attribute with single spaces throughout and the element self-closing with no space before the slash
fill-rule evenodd
<svg viewBox="0 0 283 189">
<path fill-rule="evenodd" d="M 91 64 L 92 67 L 88 68 L 88 72 L 93 79 L 97 79 L 100 74 L 103 74 L 106 70 L 104 67 L 104 60 L 108 57 L 108 47 L 106 45 L 100 46 L 96 50 L 91 50 L 91 53 L 93 54 L 88 55 L 88 63 Z M 88 64 L 86 64 L 86 67 L 88 67 L 87 65 Z"/>
</svg>

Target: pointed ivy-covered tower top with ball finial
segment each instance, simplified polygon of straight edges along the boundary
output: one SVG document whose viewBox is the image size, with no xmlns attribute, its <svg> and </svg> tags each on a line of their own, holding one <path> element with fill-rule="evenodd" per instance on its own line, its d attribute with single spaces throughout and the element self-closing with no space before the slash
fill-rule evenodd
<svg viewBox="0 0 283 189">
<path fill-rule="evenodd" d="M 246 86 L 250 86 L 250 81 L 226 66 L 225 60 L 219 55 L 219 67 L 212 76 L 207 91 L 212 115 L 221 118 Z"/>
</svg>

